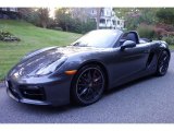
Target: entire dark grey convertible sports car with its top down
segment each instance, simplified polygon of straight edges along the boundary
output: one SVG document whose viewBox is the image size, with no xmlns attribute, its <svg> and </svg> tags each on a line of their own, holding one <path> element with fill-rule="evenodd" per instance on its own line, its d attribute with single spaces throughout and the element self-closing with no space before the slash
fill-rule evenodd
<svg viewBox="0 0 174 131">
<path fill-rule="evenodd" d="M 136 32 L 91 31 L 70 46 L 27 53 L 8 73 L 7 91 L 20 103 L 90 105 L 105 90 L 164 75 L 170 57 L 165 41 L 140 39 Z"/>
</svg>

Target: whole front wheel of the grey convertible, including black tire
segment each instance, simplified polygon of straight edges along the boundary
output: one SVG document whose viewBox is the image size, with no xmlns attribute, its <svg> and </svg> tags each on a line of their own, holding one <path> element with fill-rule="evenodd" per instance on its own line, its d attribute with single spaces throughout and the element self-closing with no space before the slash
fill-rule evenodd
<svg viewBox="0 0 174 131">
<path fill-rule="evenodd" d="M 72 84 L 73 100 L 87 106 L 99 100 L 105 86 L 105 75 L 96 64 L 85 66 L 75 75 Z"/>
</svg>

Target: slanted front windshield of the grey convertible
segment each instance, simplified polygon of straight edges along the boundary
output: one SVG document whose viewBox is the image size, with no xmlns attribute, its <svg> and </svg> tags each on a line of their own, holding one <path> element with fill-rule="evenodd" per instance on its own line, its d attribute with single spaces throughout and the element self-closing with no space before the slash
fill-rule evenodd
<svg viewBox="0 0 174 131">
<path fill-rule="evenodd" d="M 79 47 L 111 48 L 113 47 L 114 41 L 119 39 L 121 33 L 121 31 L 116 29 L 91 31 L 72 45 Z"/>
</svg>

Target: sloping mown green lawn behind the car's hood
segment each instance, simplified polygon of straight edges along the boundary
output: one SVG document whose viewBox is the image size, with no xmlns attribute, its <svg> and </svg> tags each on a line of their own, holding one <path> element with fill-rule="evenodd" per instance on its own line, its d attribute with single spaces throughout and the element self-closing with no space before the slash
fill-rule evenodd
<svg viewBox="0 0 174 131">
<path fill-rule="evenodd" d="M 0 41 L 0 80 L 3 80 L 8 71 L 28 51 L 70 45 L 80 37 L 80 34 L 40 28 L 26 22 L 11 20 L 0 20 L 0 29 L 9 31 L 21 38 L 20 43 Z"/>
</svg>

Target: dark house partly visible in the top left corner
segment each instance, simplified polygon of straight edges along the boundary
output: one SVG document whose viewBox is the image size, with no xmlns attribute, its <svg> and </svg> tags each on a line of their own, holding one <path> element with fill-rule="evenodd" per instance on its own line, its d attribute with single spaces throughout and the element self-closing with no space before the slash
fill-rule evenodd
<svg viewBox="0 0 174 131">
<path fill-rule="evenodd" d="M 0 8 L 0 19 L 18 19 L 17 8 Z"/>
</svg>

